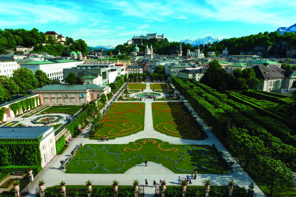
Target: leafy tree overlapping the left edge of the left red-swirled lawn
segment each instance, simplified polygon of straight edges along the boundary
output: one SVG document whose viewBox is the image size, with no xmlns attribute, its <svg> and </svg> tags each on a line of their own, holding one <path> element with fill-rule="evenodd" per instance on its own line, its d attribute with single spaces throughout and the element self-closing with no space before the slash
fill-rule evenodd
<svg viewBox="0 0 296 197">
<path fill-rule="evenodd" d="M 86 104 L 84 110 L 87 115 L 86 125 L 91 130 L 91 134 L 94 135 L 99 129 L 103 127 L 101 124 L 101 113 L 98 110 L 95 102 Z"/>
</svg>

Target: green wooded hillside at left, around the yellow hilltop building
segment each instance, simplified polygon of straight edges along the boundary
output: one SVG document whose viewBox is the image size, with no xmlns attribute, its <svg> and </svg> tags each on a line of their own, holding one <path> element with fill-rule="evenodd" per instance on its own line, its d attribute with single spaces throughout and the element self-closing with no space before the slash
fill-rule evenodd
<svg viewBox="0 0 296 197">
<path fill-rule="evenodd" d="M 39 46 L 39 43 L 48 43 L 46 46 Z M 69 50 L 80 51 L 83 54 L 88 52 L 87 44 L 84 40 L 78 39 L 73 41 L 72 38 L 66 37 L 66 44 Z M 0 53 L 7 53 L 5 49 L 14 50 L 18 45 L 23 47 L 34 47 L 32 52 L 47 52 L 50 55 L 61 55 L 65 51 L 65 46 L 55 43 L 54 40 L 46 40 L 43 32 L 36 28 L 32 30 L 25 29 L 0 29 Z"/>
</svg>

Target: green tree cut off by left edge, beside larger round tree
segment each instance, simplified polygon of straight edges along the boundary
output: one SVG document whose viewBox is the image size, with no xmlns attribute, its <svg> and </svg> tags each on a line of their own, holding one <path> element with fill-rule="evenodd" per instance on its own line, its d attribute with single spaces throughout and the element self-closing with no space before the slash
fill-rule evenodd
<svg viewBox="0 0 296 197">
<path fill-rule="evenodd" d="M 13 95 L 16 95 L 19 92 L 19 86 L 7 76 L 0 76 L 0 86 L 5 90 L 4 99 L 11 101 Z"/>
</svg>

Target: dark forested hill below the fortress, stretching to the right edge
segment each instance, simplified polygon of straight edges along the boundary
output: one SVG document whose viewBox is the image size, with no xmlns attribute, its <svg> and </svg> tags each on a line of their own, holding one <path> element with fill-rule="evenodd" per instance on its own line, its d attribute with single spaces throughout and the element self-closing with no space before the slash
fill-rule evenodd
<svg viewBox="0 0 296 197">
<path fill-rule="evenodd" d="M 177 49 L 180 45 L 179 42 L 168 42 L 163 41 L 157 42 L 156 39 L 150 39 L 148 41 L 143 41 L 143 45 L 138 44 L 137 46 L 141 51 L 145 51 L 146 43 L 150 47 L 152 44 L 153 52 L 160 55 L 170 55 L 173 49 Z M 190 51 L 196 49 L 190 44 L 181 43 L 183 55 L 186 55 L 187 49 Z M 118 54 L 120 50 L 121 54 L 130 53 L 133 51 L 135 45 L 129 46 L 127 43 L 125 45 L 117 45 L 115 49 L 109 51 L 112 54 Z M 241 51 L 245 50 L 262 50 L 265 51 L 264 56 L 269 57 L 270 55 L 278 55 L 279 57 L 290 57 L 292 54 L 291 49 L 296 47 L 296 35 L 295 33 L 284 33 L 281 35 L 279 32 L 264 32 L 258 33 L 256 35 L 242 36 L 239 38 L 224 39 L 222 41 L 217 41 L 214 43 L 209 43 L 205 46 L 199 46 L 201 50 L 204 51 L 205 56 L 207 52 L 215 51 L 216 54 L 222 54 L 222 51 L 227 47 L 229 54 L 239 55 Z"/>
</svg>

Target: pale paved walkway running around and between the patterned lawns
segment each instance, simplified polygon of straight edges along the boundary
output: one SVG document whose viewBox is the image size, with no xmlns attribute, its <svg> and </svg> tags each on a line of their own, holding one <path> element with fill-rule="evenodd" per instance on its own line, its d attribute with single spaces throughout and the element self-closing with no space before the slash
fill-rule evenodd
<svg viewBox="0 0 296 197">
<path fill-rule="evenodd" d="M 151 91 L 148 87 L 145 89 L 145 92 Z M 178 93 L 178 92 L 177 92 Z M 117 95 L 117 94 L 115 94 Z M 114 96 L 115 97 L 115 96 Z M 114 97 L 108 101 L 107 105 L 110 105 L 110 102 L 116 101 Z M 139 101 L 137 101 L 139 102 Z M 154 196 L 155 188 L 152 188 L 153 180 L 159 182 L 159 180 L 165 179 L 168 185 L 179 185 L 178 176 L 185 178 L 187 174 L 175 174 L 170 169 L 162 166 L 162 164 L 157 164 L 155 162 L 148 162 L 147 168 L 144 163 L 137 164 L 135 167 L 128 169 L 123 174 L 68 174 L 65 171 L 61 171 L 60 160 L 65 160 L 71 156 L 71 151 L 75 149 L 80 143 L 84 144 L 127 144 L 128 142 L 134 142 L 135 140 L 142 138 L 157 138 L 170 144 L 195 144 L 195 145 L 215 145 L 219 150 L 223 151 L 223 156 L 227 161 L 234 161 L 233 170 L 230 174 L 198 174 L 197 179 L 192 181 L 192 185 L 203 185 L 205 179 L 211 179 L 212 185 L 227 185 L 228 180 L 234 180 L 236 185 L 240 187 L 248 188 L 250 182 L 254 182 L 250 176 L 244 172 L 244 170 L 239 166 L 238 162 L 234 157 L 228 152 L 228 150 L 223 146 L 223 144 L 216 138 L 212 133 L 211 128 L 208 127 L 200 118 L 197 118 L 199 123 L 203 125 L 203 129 L 209 135 L 208 139 L 205 140 L 186 140 L 179 137 L 167 136 L 163 133 L 157 132 L 153 128 L 152 122 L 152 106 L 151 103 L 156 102 L 153 100 L 146 100 L 145 106 L 145 124 L 144 131 L 138 132 L 136 134 L 131 134 L 126 137 L 117 137 L 114 140 L 109 140 L 108 142 L 101 142 L 100 140 L 89 140 L 85 138 L 86 134 L 89 132 L 88 129 L 83 129 L 82 133 L 73 138 L 70 145 L 64 151 L 62 155 L 55 156 L 47 166 L 42 170 L 38 176 L 35 177 L 35 181 L 29 185 L 29 194 L 28 196 L 35 196 L 35 188 L 38 186 L 38 181 L 43 179 L 46 181 L 46 187 L 58 185 L 61 180 L 65 180 L 67 185 L 84 185 L 84 182 L 88 179 L 93 180 L 93 185 L 111 185 L 112 180 L 118 180 L 120 185 L 132 185 L 134 179 L 140 180 L 140 185 L 145 185 L 144 180 L 147 179 L 149 187 L 144 187 L 145 196 Z M 178 101 L 174 101 L 178 102 Z M 192 114 L 197 116 L 193 109 L 191 109 L 190 104 L 184 100 L 185 105 L 189 106 L 189 110 L 192 110 Z M 102 109 L 106 109 L 107 105 Z M 254 184 L 255 194 L 259 197 L 265 196 L 263 192 Z M 120 187 L 120 186 L 119 186 Z"/>
</svg>

